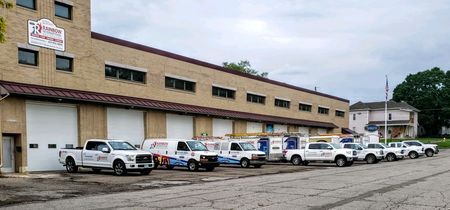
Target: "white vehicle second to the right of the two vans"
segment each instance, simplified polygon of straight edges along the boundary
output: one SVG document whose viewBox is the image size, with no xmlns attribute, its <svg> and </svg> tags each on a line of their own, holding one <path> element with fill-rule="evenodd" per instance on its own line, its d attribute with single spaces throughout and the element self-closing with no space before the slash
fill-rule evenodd
<svg viewBox="0 0 450 210">
<path fill-rule="evenodd" d="M 341 146 L 345 149 L 356 150 L 357 160 L 366 161 L 367 164 L 378 163 L 384 158 L 382 149 L 369 149 L 367 146 L 359 143 L 343 143 Z"/>
</svg>

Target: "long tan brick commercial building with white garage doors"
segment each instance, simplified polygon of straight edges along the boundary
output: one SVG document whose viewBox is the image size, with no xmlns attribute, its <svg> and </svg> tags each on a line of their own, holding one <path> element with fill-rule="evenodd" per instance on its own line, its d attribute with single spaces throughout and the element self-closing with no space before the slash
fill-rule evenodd
<svg viewBox="0 0 450 210">
<path fill-rule="evenodd" d="M 139 145 L 348 125 L 346 99 L 91 32 L 89 0 L 14 3 L 0 44 L 3 172 L 60 170 L 58 148 L 89 138 Z"/>
</svg>

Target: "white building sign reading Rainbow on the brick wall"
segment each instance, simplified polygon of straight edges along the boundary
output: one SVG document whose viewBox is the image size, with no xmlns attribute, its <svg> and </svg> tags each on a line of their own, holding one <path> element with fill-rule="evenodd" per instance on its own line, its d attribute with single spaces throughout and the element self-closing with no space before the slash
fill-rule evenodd
<svg viewBox="0 0 450 210">
<path fill-rule="evenodd" d="M 66 50 L 65 33 L 51 20 L 28 20 L 28 43 L 59 51 Z"/>
</svg>

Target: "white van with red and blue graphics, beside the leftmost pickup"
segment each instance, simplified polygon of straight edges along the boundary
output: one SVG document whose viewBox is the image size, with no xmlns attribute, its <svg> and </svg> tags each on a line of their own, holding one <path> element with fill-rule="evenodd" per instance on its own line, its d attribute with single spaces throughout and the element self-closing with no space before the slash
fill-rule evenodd
<svg viewBox="0 0 450 210">
<path fill-rule="evenodd" d="M 198 168 L 213 171 L 219 166 L 217 154 L 196 140 L 146 139 L 141 148 L 153 154 L 155 168 L 164 165 L 167 169 L 181 166 L 189 171 L 197 171 Z"/>
</svg>

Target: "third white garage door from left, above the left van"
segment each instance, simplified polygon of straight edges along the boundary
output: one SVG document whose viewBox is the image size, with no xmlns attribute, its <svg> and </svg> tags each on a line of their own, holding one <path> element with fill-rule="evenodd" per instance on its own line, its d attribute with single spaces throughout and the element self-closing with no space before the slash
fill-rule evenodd
<svg viewBox="0 0 450 210">
<path fill-rule="evenodd" d="M 167 138 L 192 139 L 194 118 L 192 116 L 166 114 Z"/>
</svg>

